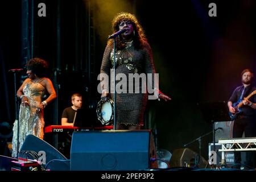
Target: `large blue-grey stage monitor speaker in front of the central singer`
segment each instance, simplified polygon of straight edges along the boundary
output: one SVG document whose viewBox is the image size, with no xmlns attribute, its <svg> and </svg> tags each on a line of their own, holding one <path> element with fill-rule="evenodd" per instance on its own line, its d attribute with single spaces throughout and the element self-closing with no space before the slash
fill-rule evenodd
<svg viewBox="0 0 256 182">
<path fill-rule="evenodd" d="M 71 142 L 71 171 L 140 170 L 155 167 L 150 130 L 78 131 Z"/>
</svg>

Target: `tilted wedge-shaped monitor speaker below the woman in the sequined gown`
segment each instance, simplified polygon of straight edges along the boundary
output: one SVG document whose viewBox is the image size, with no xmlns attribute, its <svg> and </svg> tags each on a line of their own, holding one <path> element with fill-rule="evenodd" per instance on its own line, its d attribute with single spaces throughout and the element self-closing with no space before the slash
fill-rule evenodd
<svg viewBox="0 0 256 182">
<path fill-rule="evenodd" d="M 44 151 L 46 152 L 46 164 L 50 162 L 49 166 L 51 168 L 48 169 L 52 171 L 70 170 L 67 158 L 65 158 L 63 154 L 57 151 L 56 148 L 52 147 L 49 143 L 36 137 L 35 135 L 27 135 L 24 143 L 22 144 L 22 147 L 20 148 L 20 151 L 34 151 L 37 154 L 39 151 Z M 56 159 L 62 160 L 63 163 L 60 165 L 60 162 L 57 162 Z M 67 162 L 65 162 L 66 160 Z"/>
</svg>

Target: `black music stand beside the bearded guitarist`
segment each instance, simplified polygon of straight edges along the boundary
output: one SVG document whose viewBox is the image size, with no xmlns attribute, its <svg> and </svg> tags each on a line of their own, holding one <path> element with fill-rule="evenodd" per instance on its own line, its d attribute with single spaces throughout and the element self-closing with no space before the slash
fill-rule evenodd
<svg viewBox="0 0 256 182">
<path fill-rule="evenodd" d="M 206 122 L 213 125 L 213 147 L 215 151 L 215 122 L 230 121 L 228 105 L 225 101 L 198 104 Z"/>
</svg>

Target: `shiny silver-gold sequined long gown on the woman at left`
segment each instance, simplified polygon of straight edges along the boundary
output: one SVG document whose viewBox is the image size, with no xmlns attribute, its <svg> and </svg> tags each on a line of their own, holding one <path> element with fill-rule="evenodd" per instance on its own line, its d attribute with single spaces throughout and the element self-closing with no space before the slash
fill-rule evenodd
<svg viewBox="0 0 256 182">
<path fill-rule="evenodd" d="M 44 95 L 45 88 L 39 82 L 27 81 L 23 87 L 23 94 L 28 98 L 29 106 L 23 106 L 20 104 L 19 109 L 19 149 L 22 147 L 24 139 L 27 135 L 35 135 L 40 139 L 43 139 L 43 111 L 36 108 L 42 102 L 42 96 Z M 17 153 L 17 128 L 18 121 L 14 122 L 13 127 L 13 157 L 16 157 Z"/>
</svg>

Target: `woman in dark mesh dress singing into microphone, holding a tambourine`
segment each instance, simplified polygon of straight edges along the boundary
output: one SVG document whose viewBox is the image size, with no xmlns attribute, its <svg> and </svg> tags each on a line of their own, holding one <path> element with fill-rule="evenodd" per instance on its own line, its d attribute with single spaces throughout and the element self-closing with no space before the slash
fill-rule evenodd
<svg viewBox="0 0 256 182">
<path fill-rule="evenodd" d="M 163 98 L 167 101 L 171 98 L 159 91 L 151 47 L 135 15 L 117 14 L 112 21 L 112 27 L 113 35 L 109 37 L 101 64 L 101 100 L 113 100 L 114 81 L 111 75 L 115 38 L 116 129 L 139 130 L 144 125 L 143 115 L 147 100 L 152 99 L 148 90 L 152 91 L 150 94 L 155 96 L 154 99 Z M 131 76 L 146 76 L 147 80 L 150 78 L 150 84 L 145 79 L 137 82 L 138 79 Z"/>
</svg>

